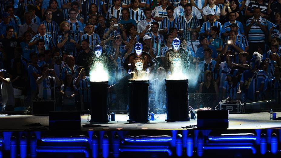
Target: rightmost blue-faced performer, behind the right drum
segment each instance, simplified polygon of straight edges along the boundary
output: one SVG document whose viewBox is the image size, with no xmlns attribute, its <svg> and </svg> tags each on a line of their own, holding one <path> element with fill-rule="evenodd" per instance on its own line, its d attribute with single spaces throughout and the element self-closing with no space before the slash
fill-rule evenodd
<svg viewBox="0 0 281 158">
<path fill-rule="evenodd" d="M 168 74 L 187 73 L 189 68 L 189 55 L 187 51 L 180 48 L 180 40 L 175 38 L 172 43 L 172 49 L 169 49 L 164 57 L 164 68 Z"/>
</svg>

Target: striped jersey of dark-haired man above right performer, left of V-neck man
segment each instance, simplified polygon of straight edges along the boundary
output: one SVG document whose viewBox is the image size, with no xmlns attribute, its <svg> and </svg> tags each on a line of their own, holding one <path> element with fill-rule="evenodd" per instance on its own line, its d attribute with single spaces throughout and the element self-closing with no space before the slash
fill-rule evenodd
<svg viewBox="0 0 281 158">
<path fill-rule="evenodd" d="M 170 21 L 168 17 L 164 18 L 159 26 L 159 30 L 164 30 L 165 28 L 167 28 L 168 32 L 170 31 L 170 28 L 176 28 L 177 30 L 183 29 L 182 22 L 179 18 L 176 17 L 174 17 L 172 21 Z"/>
</svg>

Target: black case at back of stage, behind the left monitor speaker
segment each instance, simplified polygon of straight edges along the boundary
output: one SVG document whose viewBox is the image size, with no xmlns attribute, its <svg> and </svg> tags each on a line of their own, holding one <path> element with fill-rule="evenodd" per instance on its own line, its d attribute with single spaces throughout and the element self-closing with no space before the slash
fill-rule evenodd
<svg viewBox="0 0 281 158">
<path fill-rule="evenodd" d="M 50 111 L 55 111 L 56 100 L 33 100 L 31 101 L 32 115 L 49 115 Z"/>
</svg>

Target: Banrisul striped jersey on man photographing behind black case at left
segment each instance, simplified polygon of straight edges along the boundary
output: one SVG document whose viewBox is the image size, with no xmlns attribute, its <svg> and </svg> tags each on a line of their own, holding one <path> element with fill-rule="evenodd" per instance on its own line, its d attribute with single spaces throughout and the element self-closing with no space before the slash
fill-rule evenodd
<svg viewBox="0 0 281 158">
<path fill-rule="evenodd" d="M 37 78 L 37 81 L 43 76 Z M 55 100 L 55 77 L 48 76 L 38 84 L 39 94 L 38 97 L 43 97 L 45 100 Z"/>
</svg>

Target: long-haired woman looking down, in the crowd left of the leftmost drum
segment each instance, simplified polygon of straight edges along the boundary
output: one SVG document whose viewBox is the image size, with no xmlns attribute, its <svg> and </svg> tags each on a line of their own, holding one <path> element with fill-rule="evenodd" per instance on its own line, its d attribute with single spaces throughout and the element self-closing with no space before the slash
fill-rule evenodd
<svg viewBox="0 0 281 158">
<path fill-rule="evenodd" d="M 73 78 L 71 74 L 66 74 L 64 84 L 61 85 L 60 94 L 62 95 L 61 110 L 76 110 L 75 96 L 78 95 L 78 89 L 73 85 Z"/>
</svg>

